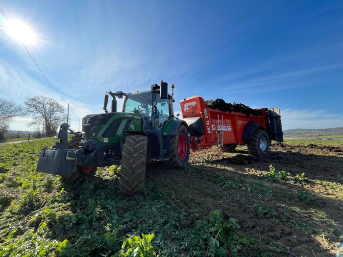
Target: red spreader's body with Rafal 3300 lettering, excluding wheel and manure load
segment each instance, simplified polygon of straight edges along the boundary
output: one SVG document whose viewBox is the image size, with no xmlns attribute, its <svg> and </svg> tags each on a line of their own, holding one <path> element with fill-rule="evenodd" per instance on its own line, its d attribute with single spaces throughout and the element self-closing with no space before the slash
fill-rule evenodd
<svg viewBox="0 0 343 257">
<path fill-rule="evenodd" d="M 185 98 L 180 105 L 183 120 L 189 126 L 193 151 L 212 145 L 245 143 L 252 138 L 256 129 L 265 130 L 270 140 L 283 141 L 278 108 L 259 109 L 260 115 L 223 112 L 208 108 L 200 96 Z"/>
</svg>

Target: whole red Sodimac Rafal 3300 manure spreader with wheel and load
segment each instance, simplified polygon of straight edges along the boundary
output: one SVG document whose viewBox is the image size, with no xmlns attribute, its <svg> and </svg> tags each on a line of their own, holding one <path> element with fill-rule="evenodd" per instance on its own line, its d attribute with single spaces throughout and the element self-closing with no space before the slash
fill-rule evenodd
<svg viewBox="0 0 343 257">
<path fill-rule="evenodd" d="M 205 102 L 200 96 L 185 98 L 180 105 L 192 151 L 213 145 L 231 151 L 238 144 L 247 144 L 251 154 L 264 156 L 271 140 L 283 141 L 279 108 L 251 109 L 221 99 Z"/>
</svg>

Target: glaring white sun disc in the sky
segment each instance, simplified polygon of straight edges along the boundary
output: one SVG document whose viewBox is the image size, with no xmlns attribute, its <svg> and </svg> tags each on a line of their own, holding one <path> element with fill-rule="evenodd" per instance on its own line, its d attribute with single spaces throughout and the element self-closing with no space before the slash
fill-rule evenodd
<svg viewBox="0 0 343 257">
<path fill-rule="evenodd" d="M 4 30 L 14 40 L 24 44 L 34 45 L 38 40 L 36 33 L 29 25 L 17 20 L 7 21 L 4 24 Z"/>
</svg>

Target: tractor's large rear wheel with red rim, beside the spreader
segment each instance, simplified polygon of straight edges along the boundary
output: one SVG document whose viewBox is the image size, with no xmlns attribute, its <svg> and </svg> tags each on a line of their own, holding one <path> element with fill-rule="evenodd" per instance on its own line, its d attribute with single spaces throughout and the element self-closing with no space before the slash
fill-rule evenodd
<svg viewBox="0 0 343 257">
<path fill-rule="evenodd" d="M 184 125 L 180 125 L 176 135 L 171 138 L 169 164 L 179 168 L 188 164 L 190 154 L 189 133 Z"/>
</svg>

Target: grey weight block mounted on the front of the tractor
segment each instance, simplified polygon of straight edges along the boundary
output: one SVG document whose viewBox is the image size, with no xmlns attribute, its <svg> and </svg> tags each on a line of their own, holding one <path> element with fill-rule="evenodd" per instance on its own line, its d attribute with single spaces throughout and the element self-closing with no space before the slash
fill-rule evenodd
<svg viewBox="0 0 343 257">
<path fill-rule="evenodd" d="M 55 139 L 53 147 L 43 148 L 41 150 L 36 168 L 37 171 L 54 175 L 71 174 L 75 172 L 77 159 L 68 155 L 68 152 L 72 150 L 66 149 L 68 129 L 69 125 L 67 123 L 62 123 L 58 138 Z"/>
</svg>

